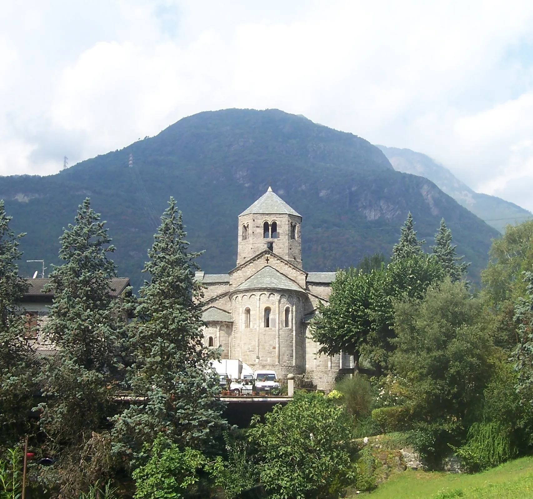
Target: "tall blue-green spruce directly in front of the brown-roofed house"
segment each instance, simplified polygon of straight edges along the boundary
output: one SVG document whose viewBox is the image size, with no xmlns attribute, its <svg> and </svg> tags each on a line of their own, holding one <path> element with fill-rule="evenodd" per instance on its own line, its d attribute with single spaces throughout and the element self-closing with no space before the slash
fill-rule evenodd
<svg viewBox="0 0 533 499">
<path fill-rule="evenodd" d="M 85 199 L 75 224 L 60 237 L 64 263 L 53 267 L 48 288 L 54 300 L 44 333 L 58 351 L 41 377 L 46 402 L 39 405 L 40 424 L 49 452 L 61 456 L 64 497 L 77 497 L 88 480 L 79 468 L 81 456 L 95 433 L 109 426 L 115 395 L 122 320 L 118 300 L 110 296 L 117 274 L 108 255 L 115 248 L 104 224 Z"/>
</svg>

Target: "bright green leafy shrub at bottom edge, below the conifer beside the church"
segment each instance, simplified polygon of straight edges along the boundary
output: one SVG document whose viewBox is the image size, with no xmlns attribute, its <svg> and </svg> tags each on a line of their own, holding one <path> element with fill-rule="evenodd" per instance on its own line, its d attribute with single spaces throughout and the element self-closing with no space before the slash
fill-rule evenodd
<svg viewBox="0 0 533 499">
<path fill-rule="evenodd" d="M 150 457 L 146 464 L 133 471 L 134 499 L 184 497 L 199 481 L 198 471 L 208 464 L 200 451 L 190 447 L 180 451 L 163 433 L 159 433 L 152 445 L 146 444 L 143 450 Z"/>
</svg>

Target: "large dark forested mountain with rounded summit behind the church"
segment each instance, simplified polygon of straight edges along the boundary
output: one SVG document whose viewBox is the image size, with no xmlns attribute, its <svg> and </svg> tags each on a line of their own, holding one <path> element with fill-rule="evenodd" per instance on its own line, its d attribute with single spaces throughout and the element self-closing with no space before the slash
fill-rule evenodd
<svg viewBox="0 0 533 499">
<path fill-rule="evenodd" d="M 390 253 L 410 210 L 428 243 L 445 217 L 476 281 L 498 235 L 433 182 L 395 171 L 363 138 L 275 109 L 195 114 L 56 175 L 0 177 L 0 197 L 14 230 L 28 233 L 24 258 L 44 258 L 47 266 L 58 263 L 62 227 L 91 197 L 108 220 L 120 275 L 138 286 L 171 195 L 191 249 L 205 250 L 201 267 L 224 273 L 236 262 L 237 216 L 269 185 L 303 216 L 307 271 L 335 271 L 376 251 Z M 31 275 L 35 265 L 23 263 L 21 273 Z"/>
</svg>

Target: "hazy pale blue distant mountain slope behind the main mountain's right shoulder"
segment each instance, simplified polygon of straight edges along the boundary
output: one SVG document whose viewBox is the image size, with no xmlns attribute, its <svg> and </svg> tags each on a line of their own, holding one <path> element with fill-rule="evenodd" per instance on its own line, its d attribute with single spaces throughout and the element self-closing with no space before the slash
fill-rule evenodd
<svg viewBox="0 0 533 499">
<path fill-rule="evenodd" d="M 461 206 L 504 233 L 507 224 L 523 222 L 533 215 L 518 204 L 504 201 L 496 196 L 481 194 L 456 178 L 450 170 L 439 165 L 429 156 L 410 149 L 387 148 L 378 145 L 395 170 L 429 178 L 439 189 L 454 198 Z"/>
</svg>

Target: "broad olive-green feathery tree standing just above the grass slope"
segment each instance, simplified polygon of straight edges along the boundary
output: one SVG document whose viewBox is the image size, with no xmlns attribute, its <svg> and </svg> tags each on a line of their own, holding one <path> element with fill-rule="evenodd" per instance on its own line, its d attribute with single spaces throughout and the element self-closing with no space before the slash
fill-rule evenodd
<svg viewBox="0 0 533 499">
<path fill-rule="evenodd" d="M 492 372 L 482 303 L 461 282 L 432 285 L 395 307 L 393 366 L 409 386 L 419 449 L 438 457 L 475 420 Z"/>
</svg>

